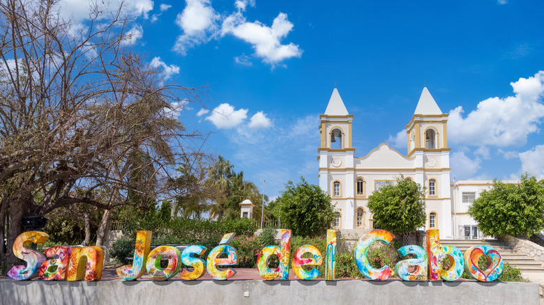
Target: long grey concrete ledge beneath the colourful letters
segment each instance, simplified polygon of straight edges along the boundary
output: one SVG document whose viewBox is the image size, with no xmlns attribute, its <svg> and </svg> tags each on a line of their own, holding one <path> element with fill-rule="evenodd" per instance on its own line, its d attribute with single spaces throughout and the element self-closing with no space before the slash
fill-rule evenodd
<svg viewBox="0 0 544 305">
<path fill-rule="evenodd" d="M 0 281 L 0 304 L 539 304 L 537 283 Z M 245 297 L 248 295 L 248 297 Z"/>
</svg>

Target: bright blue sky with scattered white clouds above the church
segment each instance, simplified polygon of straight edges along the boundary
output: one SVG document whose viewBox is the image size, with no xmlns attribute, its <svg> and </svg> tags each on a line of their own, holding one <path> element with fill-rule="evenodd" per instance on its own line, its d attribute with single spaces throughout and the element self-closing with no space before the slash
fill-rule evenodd
<svg viewBox="0 0 544 305">
<path fill-rule="evenodd" d="M 114 2 L 114 1 L 112 1 Z M 82 0 L 61 3 L 84 20 Z M 356 157 L 402 132 L 424 84 L 448 122 L 452 177 L 544 176 L 544 2 L 128 0 L 126 44 L 166 83 L 205 86 L 179 119 L 211 132 L 266 194 L 317 184 L 319 114 L 336 84 Z M 225 115 L 222 115 L 225 114 Z"/>
</svg>

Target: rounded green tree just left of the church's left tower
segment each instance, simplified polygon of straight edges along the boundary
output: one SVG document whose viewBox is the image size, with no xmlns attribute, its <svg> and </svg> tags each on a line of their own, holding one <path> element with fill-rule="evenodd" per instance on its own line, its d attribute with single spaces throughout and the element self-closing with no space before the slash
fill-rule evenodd
<svg viewBox="0 0 544 305">
<path fill-rule="evenodd" d="M 323 235 L 331 228 L 334 217 L 331 196 L 303 177 L 296 185 L 292 181 L 285 184 L 275 206 L 281 208 L 282 226 L 291 228 L 293 235 Z"/>
</svg>

